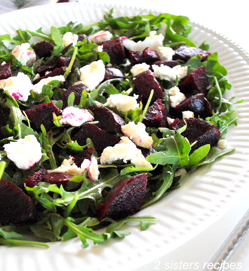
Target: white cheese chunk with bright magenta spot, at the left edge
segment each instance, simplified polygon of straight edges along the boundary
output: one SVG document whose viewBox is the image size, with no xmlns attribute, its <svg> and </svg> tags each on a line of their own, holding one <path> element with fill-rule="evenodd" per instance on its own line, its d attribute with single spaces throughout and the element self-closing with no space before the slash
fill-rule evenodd
<svg viewBox="0 0 249 271">
<path fill-rule="evenodd" d="M 30 95 L 30 90 L 34 88 L 29 76 L 23 72 L 18 72 L 17 76 L 11 76 L 0 80 L 3 89 L 15 99 L 26 102 Z M 1 86 L 0 86 L 1 88 Z"/>
</svg>

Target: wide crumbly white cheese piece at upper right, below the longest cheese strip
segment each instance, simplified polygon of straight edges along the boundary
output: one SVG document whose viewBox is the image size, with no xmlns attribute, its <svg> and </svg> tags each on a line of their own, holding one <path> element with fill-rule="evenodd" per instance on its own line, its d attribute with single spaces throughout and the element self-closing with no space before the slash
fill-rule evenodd
<svg viewBox="0 0 249 271">
<path fill-rule="evenodd" d="M 161 64 L 160 66 L 157 66 L 155 64 L 152 65 L 154 75 L 155 77 L 161 79 L 161 80 L 168 80 L 170 82 L 176 82 L 176 79 L 178 80 L 182 79 L 183 77 L 187 76 L 188 67 L 187 66 L 181 66 L 177 65 L 173 68 L 170 68 L 169 66 Z"/>
</svg>

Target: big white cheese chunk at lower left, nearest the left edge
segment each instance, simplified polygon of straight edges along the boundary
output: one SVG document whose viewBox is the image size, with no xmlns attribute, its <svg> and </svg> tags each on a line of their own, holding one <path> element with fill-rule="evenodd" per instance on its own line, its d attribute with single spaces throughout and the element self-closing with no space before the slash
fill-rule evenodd
<svg viewBox="0 0 249 271">
<path fill-rule="evenodd" d="M 17 141 L 3 145 L 7 157 L 22 170 L 33 167 L 41 160 L 41 144 L 34 135 L 28 135 Z"/>
</svg>

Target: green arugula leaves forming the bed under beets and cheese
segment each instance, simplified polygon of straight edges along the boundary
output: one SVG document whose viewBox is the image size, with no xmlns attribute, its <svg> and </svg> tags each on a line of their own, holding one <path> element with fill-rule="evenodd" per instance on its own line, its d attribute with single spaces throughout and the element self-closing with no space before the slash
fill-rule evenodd
<svg viewBox="0 0 249 271">
<path fill-rule="evenodd" d="M 33 82 L 38 65 L 52 63 L 53 59 L 57 59 L 59 56 L 71 57 L 70 64 L 68 67 L 65 67 L 64 73 L 64 77 L 68 78 L 67 87 L 69 87 L 74 82 L 79 81 L 79 68 L 96 60 L 103 60 L 107 64 L 110 59 L 106 52 L 96 50 L 98 47 L 96 43 L 87 41 L 86 39 L 78 42 L 75 46 L 71 46 L 69 50 L 64 52 L 65 46 L 63 45 L 62 35 L 67 32 L 77 35 L 92 35 L 100 30 L 104 30 L 110 31 L 113 37 L 125 36 L 137 41 L 149 36 L 150 31 L 155 30 L 157 33 L 164 35 L 163 45 L 169 46 L 173 50 L 183 44 L 196 46 L 188 39 L 188 34 L 191 32 L 191 25 L 187 17 L 164 13 L 158 16 L 149 14 L 114 18 L 112 12 L 111 10 L 109 13 L 106 13 L 102 21 L 88 26 L 73 22 L 59 28 L 52 26 L 50 34 L 44 33 L 42 28 L 40 28 L 37 30 L 18 29 L 15 37 L 11 37 L 9 34 L 2 35 L 0 36 L 0 63 L 3 61 L 6 63 L 11 62 L 13 74 L 17 75 L 18 72 L 23 72 Z M 54 45 L 54 49 L 52 56 L 46 59 L 37 58 L 33 65 L 28 67 L 19 62 L 11 54 L 11 50 L 13 46 L 21 45 L 22 43 L 31 43 L 32 48 L 34 45 L 32 37 L 38 37 L 39 40 L 51 42 Z M 12 47 L 10 48 L 6 43 L 11 44 Z M 204 50 L 209 49 L 208 44 L 205 42 L 198 45 L 198 47 Z M 185 65 L 188 66 L 188 74 L 197 67 L 206 66 L 209 79 L 207 99 L 213 108 L 213 116 L 208 117 L 206 121 L 219 128 L 222 138 L 227 132 L 228 126 L 231 124 L 236 125 L 237 120 L 234 110 L 231 109 L 234 97 L 230 100 L 223 97 L 225 90 L 231 88 L 225 77 L 227 74 L 226 69 L 219 63 L 216 52 L 211 54 L 204 62 L 201 62 L 199 56 L 194 56 Z M 110 94 L 122 93 L 133 96 L 134 84 L 132 82 L 132 75 L 129 72 L 130 67 L 123 64 L 116 67 L 125 73 L 125 79 L 106 80 L 89 93 L 83 91 L 80 104 L 75 107 L 89 108 L 96 103 L 104 104 L 107 96 L 110 96 Z M 178 82 L 173 84 L 169 81 L 166 83 L 167 88 L 178 84 Z M 10 112 L 8 126 L 1 128 L 2 133 L 5 135 L 0 141 L 0 173 L 2 179 L 20 185 L 41 167 L 56 169 L 61 165 L 63 159 L 68 159 L 68 152 L 80 152 L 87 146 L 93 146 L 91 140 L 88 140 L 85 146 L 80 146 L 76 141 L 72 141 L 70 133 L 74 128 L 65 126 L 62 129 L 63 124 L 59 122 L 60 117 L 55 115 L 54 128 L 46 131 L 44 126 L 41 126 L 41 132 L 35 131 L 31 128 L 29 119 L 24 115 L 23 110 L 21 110 L 25 107 L 47 103 L 51 100 L 61 110 L 62 101 L 60 97 L 65 91 L 65 89 L 60 88 L 61 84 L 60 81 L 53 80 L 42 87 L 40 94 L 31 90 L 31 95 L 29 95 L 27 101 L 15 99 L 5 91 L 3 86 L 1 87 L 1 105 Z M 107 96 L 102 95 L 103 91 Z M 163 102 L 166 107 L 169 105 L 167 97 L 163 99 Z M 74 94 L 68 97 L 68 105 L 73 105 L 73 103 Z M 129 110 L 124 113 L 118 112 L 115 108 L 112 108 L 112 110 L 124 117 L 126 123 L 129 121 L 137 123 L 143 120 L 147 108 L 148 106 L 145 106 L 144 109 L 140 106 L 135 110 Z M 113 163 L 111 165 L 99 164 L 100 177 L 98 180 L 92 181 L 87 173 L 74 176 L 71 179 L 77 183 L 83 181 L 80 188 L 76 191 L 68 191 L 62 185 L 58 187 L 55 184 L 46 182 L 41 182 L 35 187 L 26 186 L 27 193 L 29 193 L 33 201 L 41 204 L 43 207 L 39 212 L 39 220 L 27 225 L 0 225 L 0 243 L 3 245 L 48 246 L 45 242 L 27 240 L 25 238 L 26 234 L 31 234 L 32 232 L 35 236 L 49 241 L 65 241 L 78 236 L 82 241 L 82 246 L 86 247 L 89 240 L 92 240 L 94 244 L 100 244 L 110 238 L 123 238 L 130 234 L 127 229 L 122 228 L 125 223 L 129 225 L 130 222 L 136 222 L 141 226 L 141 230 L 147 229 L 150 225 L 156 223 L 156 218 L 150 216 L 130 216 L 120 221 L 105 218 L 104 223 L 107 223 L 106 225 L 108 226 L 105 232 L 99 232 L 96 229 L 102 226 L 103 222 L 100 224 L 100 221 L 92 215 L 93 210 L 101 203 L 104 195 L 114 185 L 127 177 L 146 172 L 148 174 L 148 184 L 145 199 L 141 207 L 143 209 L 164 197 L 171 190 L 179 187 L 181 176 L 175 175 L 175 172 L 179 169 L 186 169 L 186 171 L 193 170 L 201 165 L 212 163 L 221 155 L 230 153 L 233 150 L 232 148 L 210 148 L 208 144 L 190 154 L 191 145 L 181 135 L 185 129 L 186 125 L 177 132 L 167 128 L 147 127 L 146 131 L 153 138 L 153 148 L 157 151 L 157 153 L 147 157 L 147 161 L 153 164 L 152 169 L 150 167 L 134 167 L 132 164 L 124 163 Z M 162 137 L 159 137 L 159 134 L 162 134 Z M 17 170 L 14 163 L 7 158 L 7 154 L 2 146 L 11 141 L 24 138 L 27 135 L 34 135 L 41 143 L 42 158 L 31 169 Z M 59 152 L 54 152 L 54 149 L 59 149 Z M 161 167 L 162 169 L 160 171 L 154 170 L 157 167 Z"/>
</svg>

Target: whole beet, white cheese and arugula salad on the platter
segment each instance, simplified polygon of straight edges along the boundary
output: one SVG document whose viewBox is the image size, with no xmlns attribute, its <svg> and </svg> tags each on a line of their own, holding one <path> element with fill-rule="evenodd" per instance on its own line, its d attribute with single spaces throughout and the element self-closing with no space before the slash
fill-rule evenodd
<svg viewBox="0 0 249 271">
<path fill-rule="evenodd" d="M 86 247 L 130 234 L 125 223 L 145 230 L 156 218 L 139 210 L 233 151 L 226 69 L 190 31 L 184 16 L 110 10 L 0 36 L 1 244 Z"/>
</svg>

